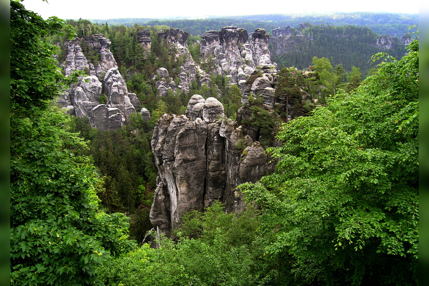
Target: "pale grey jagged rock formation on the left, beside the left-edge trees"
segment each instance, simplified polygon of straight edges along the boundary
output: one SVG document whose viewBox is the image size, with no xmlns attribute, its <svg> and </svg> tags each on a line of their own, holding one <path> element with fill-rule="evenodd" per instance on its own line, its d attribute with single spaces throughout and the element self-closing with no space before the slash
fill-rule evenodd
<svg viewBox="0 0 429 286">
<path fill-rule="evenodd" d="M 67 50 L 62 63 L 66 76 L 76 70 L 89 75 L 73 84 L 57 102 L 70 114 L 87 117 L 91 127 L 108 130 L 125 125 L 130 114 L 140 109 L 140 101 L 127 90 L 110 52 L 110 40 L 101 34 L 75 38 L 67 43 Z"/>
</svg>

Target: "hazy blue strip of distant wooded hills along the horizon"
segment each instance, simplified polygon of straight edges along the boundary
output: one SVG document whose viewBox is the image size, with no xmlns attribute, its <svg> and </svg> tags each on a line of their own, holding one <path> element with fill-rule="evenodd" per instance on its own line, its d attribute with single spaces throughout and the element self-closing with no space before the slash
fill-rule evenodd
<svg viewBox="0 0 429 286">
<path fill-rule="evenodd" d="M 202 35 L 206 31 L 220 30 L 226 26 L 237 26 L 253 31 L 262 28 L 271 34 L 277 27 L 284 29 L 286 26 L 298 27 L 299 24 L 308 22 L 313 25 L 334 26 L 358 26 L 366 27 L 380 35 L 391 35 L 401 37 L 408 33 L 408 28 L 419 22 L 418 14 L 394 14 L 394 13 L 332 13 L 311 15 L 250 15 L 231 16 L 205 19 L 148 19 L 148 18 L 124 18 L 124 19 L 92 19 L 94 23 L 108 23 L 110 25 L 134 26 L 138 25 L 167 25 L 190 33 L 191 35 Z"/>
</svg>

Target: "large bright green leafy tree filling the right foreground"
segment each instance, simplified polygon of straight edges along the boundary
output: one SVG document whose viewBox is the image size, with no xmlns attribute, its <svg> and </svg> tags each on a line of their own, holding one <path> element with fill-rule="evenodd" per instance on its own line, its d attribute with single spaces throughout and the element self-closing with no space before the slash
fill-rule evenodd
<svg viewBox="0 0 429 286">
<path fill-rule="evenodd" d="M 418 47 L 284 125 L 276 172 L 242 186 L 298 284 L 418 284 Z"/>
</svg>

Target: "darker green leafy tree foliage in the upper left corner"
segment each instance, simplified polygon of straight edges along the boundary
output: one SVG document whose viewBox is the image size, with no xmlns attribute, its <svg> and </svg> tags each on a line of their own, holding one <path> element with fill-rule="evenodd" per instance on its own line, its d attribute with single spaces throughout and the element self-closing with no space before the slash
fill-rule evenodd
<svg viewBox="0 0 429 286">
<path fill-rule="evenodd" d="M 46 36 L 69 26 L 56 17 L 44 20 L 17 2 L 10 2 L 10 106 L 13 115 L 28 115 L 58 95 L 65 78 L 52 55 L 55 46 Z"/>
</svg>

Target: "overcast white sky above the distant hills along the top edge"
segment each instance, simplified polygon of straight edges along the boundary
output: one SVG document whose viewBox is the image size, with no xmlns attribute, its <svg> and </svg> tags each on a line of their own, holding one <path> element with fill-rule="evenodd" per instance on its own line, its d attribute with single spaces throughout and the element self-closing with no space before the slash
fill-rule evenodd
<svg viewBox="0 0 429 286">
<path fill-rule="evenodd" d="M 201 18 L 255 14 L 326 12 L 419 13 L 416 2 L 404 0 L 25 0 L 24 6 L 44 18 L 62 19 Z M 414 5 L 413 5 L 414 4 Z"/>
</svg>

